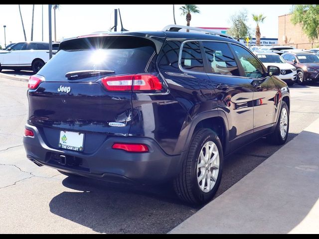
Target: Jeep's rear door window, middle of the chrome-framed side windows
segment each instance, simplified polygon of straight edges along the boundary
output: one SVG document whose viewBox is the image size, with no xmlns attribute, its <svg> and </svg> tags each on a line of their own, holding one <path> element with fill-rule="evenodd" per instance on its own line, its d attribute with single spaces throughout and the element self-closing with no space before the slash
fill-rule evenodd
<svg viewBox="0 0 319 239">
<path fill-rule="evenodd" d="M 212 73 L 239 76 L 235 58 L 226 43 L 203 42 L 203 46 Z"/>
</svg>

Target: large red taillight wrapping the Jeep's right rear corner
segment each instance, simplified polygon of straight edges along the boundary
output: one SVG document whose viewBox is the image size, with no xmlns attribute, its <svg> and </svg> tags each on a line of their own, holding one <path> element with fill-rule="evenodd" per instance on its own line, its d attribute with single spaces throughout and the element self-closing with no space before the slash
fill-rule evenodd
<svg viewBox="0 0 319 239">
<path fill-rule="evenodd" d="M 102 84 L 108 91 L 160 91 L 160 79 L 151 74 L 107 76 Z"/>
</svg>

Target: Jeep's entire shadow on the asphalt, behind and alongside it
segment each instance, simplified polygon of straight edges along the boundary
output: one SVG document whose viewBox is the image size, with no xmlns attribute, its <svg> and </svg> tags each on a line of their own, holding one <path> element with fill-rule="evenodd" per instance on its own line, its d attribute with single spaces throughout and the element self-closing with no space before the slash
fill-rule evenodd
<svg viewBox="0 0 319 239">
<path fill-rule="evenodd" d="M 290 133 L 288 140 L 296 135 Z M 279 148 L 261 138 L 225 158 L 222 181 L 214 198 Z M 131 186 L 67 177 L 62 184 L 71 191 L 55 196 L 50 211 L 98 233 L 167 233 L 201 208 L 179 201 L 170 183 Z"/>
</svg>

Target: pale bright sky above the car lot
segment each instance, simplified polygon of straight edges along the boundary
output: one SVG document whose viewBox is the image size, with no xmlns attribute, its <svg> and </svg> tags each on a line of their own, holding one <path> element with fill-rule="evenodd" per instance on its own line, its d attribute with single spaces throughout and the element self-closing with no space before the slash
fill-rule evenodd
<svg viewBox="0 0 319 239">
<path fill-rule="evenodd" d="M 177 24 L 185 25 L 175 4 Z M 261 35 L 278 37 L 278 16 L 289 13 L 292 5 L 201 5 L 200 14 L 192 14 L 191 26 L 229 27 L 230 15 L 244 8 L 248 11 L 249 25 L 255 27 L 251 14 L 263 13 L 266 17 L 260 25 Z M 95 31 L 107 31 L 114 25 L 114 8 L 120 8 L 124 27 L 129 30 L 161 30 L 173 24 L 172 5 L 67 5 L 56 11 L 57 40 Z M 3 25 L 6 25 L 6 43 L 24 41 L 17 4 L 0 5 L 0 45 L 4 46 Z M 32 5 L 21 5 L 27 40 L 30 40 Z M 48 40 L 48 5 L 43 5 L 44 40 Z M 52 11 L 53 23 L 53 11 Z M 52 25 L 53 31 L 53 25 Z M 42 5 L 35 5 L 33 40 L 42 39 Z"/>
</svg>

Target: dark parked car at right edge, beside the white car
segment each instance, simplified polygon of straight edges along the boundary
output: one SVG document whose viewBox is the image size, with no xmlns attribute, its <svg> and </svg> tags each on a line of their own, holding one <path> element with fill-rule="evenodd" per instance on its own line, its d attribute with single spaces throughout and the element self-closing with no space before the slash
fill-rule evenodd
<svg viewBox="0 0 319 239">
<path fill-rule="evenodd" d="M 319 81 L 319 57 L 309 52 L 290 52 L 282 55 L 287 63 L 297 68 L 297 83 Z"/>
</svg>

